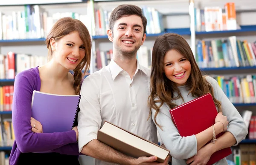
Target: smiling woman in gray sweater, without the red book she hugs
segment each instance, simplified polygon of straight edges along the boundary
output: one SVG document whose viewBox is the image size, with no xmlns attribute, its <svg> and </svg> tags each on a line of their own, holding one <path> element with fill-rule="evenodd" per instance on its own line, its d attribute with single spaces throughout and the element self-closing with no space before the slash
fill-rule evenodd
<svg viewBox="0 0 256 165">
<path fill-rule="evenodd" d="M 169 110 L 207 93 L 218 111 L 216 123 L 198 134 L 181 137 Z M 237 145 L 247 135 L 237 109 L 215 79 L 202 76 L 189 44 L 178 34 L 164 34 L 154 43 L 148 103 L 162 143 L 170 150 L 172 165 L 206 165 L 214 152 Z M 213 131 L 225 133 L 214 140 Z M 208 143 L 210 140 L 215 143 Z M 214 165 L 227 165 L 227 160 Z"/>
</svg>

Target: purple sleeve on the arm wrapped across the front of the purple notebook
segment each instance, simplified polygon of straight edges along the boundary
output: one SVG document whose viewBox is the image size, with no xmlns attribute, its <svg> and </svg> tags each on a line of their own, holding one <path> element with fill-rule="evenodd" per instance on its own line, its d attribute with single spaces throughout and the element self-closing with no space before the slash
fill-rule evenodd
<svg viewBox="0 0 256 165">
<path fill-rule="evenodd" d="M 69 143 L 76 143 L 73 130 L 56 133 L 34 133 L 31 131 L 32 93 L 35 83 L 25 74 L 15 77 L 12 103 L 12 122 L 17 147 L 22 153 L 51 151 Z"/>
</svg>

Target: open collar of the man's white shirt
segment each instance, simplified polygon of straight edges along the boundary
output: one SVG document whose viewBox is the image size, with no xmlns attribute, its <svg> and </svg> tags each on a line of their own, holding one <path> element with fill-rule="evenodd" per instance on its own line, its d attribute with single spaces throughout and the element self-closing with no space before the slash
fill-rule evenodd
<svg viewBox="0 0 256 165">
<path fill-rule="evenodd" d="M 116 76 L 119 75 L 119 73 L 123 71 L 123 69 L 118 64 L 116 64 L 116 62 L 113 59 L 111 59 L 108 66 L 111 71 L 111 76 L 112 76 L 113 80 L 115 80 Z M 147 74 L 146 70 L 140 65 L 140 63 L 137 60 L 137 69 L 136 69 L 134 75 L 136 75 L 138 70 L 141 70 L 145 75 L 147 75 L 150 78 L 150 75 Z"/>
</svg>

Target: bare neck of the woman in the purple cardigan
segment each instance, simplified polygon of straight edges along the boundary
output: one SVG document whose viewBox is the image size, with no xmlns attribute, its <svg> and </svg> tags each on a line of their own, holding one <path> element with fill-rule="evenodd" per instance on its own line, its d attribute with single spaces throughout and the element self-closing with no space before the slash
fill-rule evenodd
<svg viewBox="0 0 256 165">
<path fill-rule="evenodd" d="M 68 79 L 69 70 L 55 62 L 54 59 L 51 59 L 42 68 L 44 68 L 44 73 L 47 73 L 47 77 L 53 81 L 64 81 Z"/>
</svg>

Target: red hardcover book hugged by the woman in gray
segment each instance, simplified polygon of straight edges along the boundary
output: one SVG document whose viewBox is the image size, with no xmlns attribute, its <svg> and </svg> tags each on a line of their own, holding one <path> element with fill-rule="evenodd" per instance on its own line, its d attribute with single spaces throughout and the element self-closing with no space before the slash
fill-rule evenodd
<svg viewBox="0 0 256 165">
<path fill-rule="evenodd" d="M 215 124 L 215 117 L 218 114 L 212 95 L 210 94 L 203 95 L 183 105 L 177 106 L 171 109 L 170 113 L 182 137 L 198 134 L 208 129 Z M 217 140 L 222 134 L 224 134 L 224 132 L 216 136 Z M 210 143 L 210 141 L 208 143 Z M 212 154 L 207 165 L 212 165 L 230 154 L 232 154 L 230 147 L 219 150 Z"/>
</svg>

